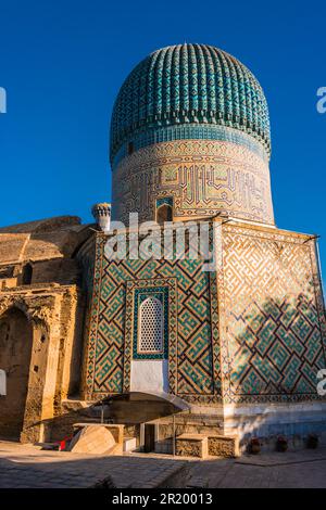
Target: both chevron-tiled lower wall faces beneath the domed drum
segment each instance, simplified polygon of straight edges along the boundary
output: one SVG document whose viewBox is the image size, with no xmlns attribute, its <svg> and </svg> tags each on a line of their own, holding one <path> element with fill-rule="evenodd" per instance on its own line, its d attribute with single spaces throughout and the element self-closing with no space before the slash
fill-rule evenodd
<svg viewBox="0 0 326 510">
<path fill-rule="evenodd" d="M 314 241 L 215 224 L 216 272 L 202 271 L 202 260 L 109 262 L 98 235 L 88 398 L 128 391 L 135 299 L 164 289 L 170 393 L 201 404 L 321 398 L 325 317 Z"/>
</svg>

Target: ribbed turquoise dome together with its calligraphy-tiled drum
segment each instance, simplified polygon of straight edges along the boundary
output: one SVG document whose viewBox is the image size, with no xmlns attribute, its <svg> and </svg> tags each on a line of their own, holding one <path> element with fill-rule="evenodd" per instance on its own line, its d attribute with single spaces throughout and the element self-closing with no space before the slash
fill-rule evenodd
<svg viewBox="0 0 326 510">
<path fill-rule="evenodd" d="M 237 59 L 206 44 L 151 53 L 123 84 L 112 114 L 114 220 L 216 213 L 273 225 L 269 117 L 264 92 Z"/>
</svg>

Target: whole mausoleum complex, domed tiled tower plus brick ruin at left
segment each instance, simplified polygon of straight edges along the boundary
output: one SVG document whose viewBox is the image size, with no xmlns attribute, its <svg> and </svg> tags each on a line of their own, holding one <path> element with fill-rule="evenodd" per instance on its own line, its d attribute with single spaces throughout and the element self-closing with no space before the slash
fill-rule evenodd
<svg viewBox="0 0 326 510">
<path fill-rule="evenodd" d="M 0 230 L 0 432 L 53 438 L 101 415 L 156 451 L 174 434 L 323 437 L 317 240 L 275 224 L 256 78 L 211 46 L 158 50 L 122 85 L 110 138 L 96 225 Z"/>
</svg>

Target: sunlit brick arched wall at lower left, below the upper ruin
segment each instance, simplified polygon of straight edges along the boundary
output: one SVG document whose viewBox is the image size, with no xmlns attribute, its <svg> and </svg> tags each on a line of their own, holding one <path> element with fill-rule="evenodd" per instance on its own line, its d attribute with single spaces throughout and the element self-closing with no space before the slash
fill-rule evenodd
<svg viewBox="0 0 326 510">
<path fill-rule="evenodd" d="M 57 397 L 66 397 L 80 373 L 82 346 L 76 324 L 80 303 L 75 285 L 28 285 L 0 292 L 1 341 L 5 344 L 4 352 L 10 353 L 10 365 L 15 361 L 12 354 L 15 344 L 27 340 L 26 334 L 30 332 L 29 354 L 26 342 L 18 355 L 20 364 L 15 362 L 16 371 L 7 367 L 9 392 L 0 399 L 0 430 L 7 430 L 7 435 L 11 432 L 15 435 L 21 433 L 24 442 L 47 438 L 55 413 L 55 391 Z M 12 321 L 17 316 L 21 317 L 18 323 Z M 8 322 L 12 336 L 7 332 Z M 21 324 L 21 330 L 24 324 L 24 336 L 17 324 Z M 4 365 L 7 362 L 2 358 L 1 361 Z M 24 418 L 22 422 L 17 419 L 16 406 L 12 403 L 17 398 L 17 381 L 23 378 L 27 393 L 20 393 Z"/>
</svg>

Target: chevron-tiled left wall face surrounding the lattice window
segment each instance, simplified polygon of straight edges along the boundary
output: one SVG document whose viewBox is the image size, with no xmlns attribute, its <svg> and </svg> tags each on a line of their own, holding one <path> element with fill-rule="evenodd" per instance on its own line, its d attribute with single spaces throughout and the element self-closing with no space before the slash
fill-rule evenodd
<svg viewBox="0 0 326 510">
<path fill-rule="evenodd" d="M 218 347 L 212 348 L 218 332 L 212 334 L 211 329 L 211 315 L 214 323 L 217 321 L 217 301 L 210 297 L 210 273 L 202 271 L 202 260 L 109 262 L 104 244 L 105 237 L 99 234 L 88 348 L 88 397 L 121 393 L 129 387 L 133 292 L 154 284 L 168 288 L 171 392 L 185 397 L 218 396 L 220 384 L 214 382 L 220 372 Z"/>
</svg>

